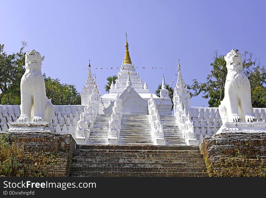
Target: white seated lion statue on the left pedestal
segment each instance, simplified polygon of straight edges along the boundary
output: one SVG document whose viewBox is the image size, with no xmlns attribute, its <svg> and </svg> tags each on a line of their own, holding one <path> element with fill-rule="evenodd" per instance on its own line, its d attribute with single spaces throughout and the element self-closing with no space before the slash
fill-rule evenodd
<svg viewBox="0 0 266 198">
<path fill-rule="evenodd" d="M 25 55 L 26 71 L 21 78 L 21 115 L 17 122 L 52 122 L 54 105 L 45 92 L 41 65 L 44 56 L 35 50 Z"/>
</svg>

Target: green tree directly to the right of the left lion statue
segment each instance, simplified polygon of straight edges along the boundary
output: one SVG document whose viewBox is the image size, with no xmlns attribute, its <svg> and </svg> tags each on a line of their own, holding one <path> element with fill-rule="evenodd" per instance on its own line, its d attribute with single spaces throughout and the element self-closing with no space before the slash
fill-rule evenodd
<svg viewBox="0 0 266 198">
<path fill-rule="evenodd" d="M 46 77 L 44 73 L 46 95 L 54 105 L 80 105 L 81 97 L 75 85 L 60 83 L 60 80 Z"/>
</svg>

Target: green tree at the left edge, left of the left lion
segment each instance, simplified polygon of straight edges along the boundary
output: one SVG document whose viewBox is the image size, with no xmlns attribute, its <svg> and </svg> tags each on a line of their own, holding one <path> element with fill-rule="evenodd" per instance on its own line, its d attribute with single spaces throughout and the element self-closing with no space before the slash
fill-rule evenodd
<svg viewBox="0 0 266 198">
<path fill-rule="evenodd" d="M 22 41 L 19 52 L 6 54 L 0 44 L 0 104 L 20 104 L 20 80 L 25 73 L 25 52 L 27 43 Z"/>
</svg>

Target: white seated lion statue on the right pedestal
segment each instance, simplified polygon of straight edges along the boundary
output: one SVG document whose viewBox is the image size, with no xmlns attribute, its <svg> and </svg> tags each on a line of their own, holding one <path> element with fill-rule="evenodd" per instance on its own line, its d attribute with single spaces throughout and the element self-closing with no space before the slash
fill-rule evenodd
<svg viewBox="0 0 266 198">
<path fill-rule="evenodd" d="M 242 55 L 232 49 L 224 60 L 227 68 L 225 96 L 219 105 L 222 123 L 256 121 L 251 105 L 250 83 L 243 72 Z"/>
</svg>

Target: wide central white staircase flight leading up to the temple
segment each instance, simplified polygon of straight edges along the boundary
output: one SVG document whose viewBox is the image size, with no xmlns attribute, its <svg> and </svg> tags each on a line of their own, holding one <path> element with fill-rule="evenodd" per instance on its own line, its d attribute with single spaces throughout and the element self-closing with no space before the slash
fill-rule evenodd
<svg viewBox="0 0 266 198">
<path fill-rule="evenodd" d="M 123 115 L 120 145 L 153 145 L 149 115 Z"/>
</svg>

